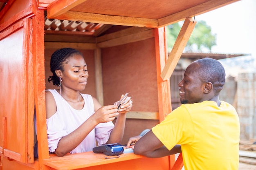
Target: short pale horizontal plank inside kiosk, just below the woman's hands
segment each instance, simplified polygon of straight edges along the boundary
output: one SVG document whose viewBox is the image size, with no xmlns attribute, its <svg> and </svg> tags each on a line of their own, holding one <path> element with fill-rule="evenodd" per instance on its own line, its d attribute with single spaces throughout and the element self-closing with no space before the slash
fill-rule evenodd
<svg viewBox="0 0 256 170">
<path fill-rule="evenodd" d="M 159 120 L 159 113 L 157 112 L 143 112 L 143 111 L 132 111 L 126 114 L 127 119 L 152 119 Z"/>
</svg>

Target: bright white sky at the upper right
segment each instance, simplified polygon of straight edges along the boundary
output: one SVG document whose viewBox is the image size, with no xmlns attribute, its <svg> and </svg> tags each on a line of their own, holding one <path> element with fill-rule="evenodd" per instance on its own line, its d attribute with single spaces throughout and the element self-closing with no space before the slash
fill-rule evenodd
<svg viewBox="0 0 256 170">
<path fill-rule="evenodd" d="M 240 0 L 195 16 L 216 33 L 212 53 L 251 54 L 256 57 L 256 0 Z"/>
</svg>

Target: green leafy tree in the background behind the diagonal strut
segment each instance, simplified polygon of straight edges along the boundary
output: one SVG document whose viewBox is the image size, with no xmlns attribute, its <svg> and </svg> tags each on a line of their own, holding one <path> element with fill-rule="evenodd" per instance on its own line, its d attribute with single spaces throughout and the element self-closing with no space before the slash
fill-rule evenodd
<svg viewBox="0 0 256 170">
<path fill-rule="evenodd" d="M 183 22 L 177 22 L 167 26 L 168 52 L 171 52 L 182 24 Z M 195 24 L 195 29 L 186 44 L 184 52 L 211 53 L 211 48 L 214 45 L 216 45 L 216 34 L 211 33 L 211 26 L 208 26 L 205 21 L 198 21 Z"/>
</svg>

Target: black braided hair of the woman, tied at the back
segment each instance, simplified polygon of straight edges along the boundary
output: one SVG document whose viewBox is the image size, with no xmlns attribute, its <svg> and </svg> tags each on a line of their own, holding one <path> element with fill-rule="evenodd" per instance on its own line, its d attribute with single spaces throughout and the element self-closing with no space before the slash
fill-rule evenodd
<svg viewBox="0 0 256 170">
<path fill-rule="evenodd" d="M 48 82 L 52 81 L 54 85 L 60 85 L 60 78 L 56 75 L 55 71 L 64 71 L 63 62 L 65 62 L 68 58 L 72 57 L 74 54 L 79 54 L 83 56 L 83 54 L 80 51 L 72 48 L 58 49 L 52 54 L 50 68 L 53 75 L 48 78 Z"/>
</svg>

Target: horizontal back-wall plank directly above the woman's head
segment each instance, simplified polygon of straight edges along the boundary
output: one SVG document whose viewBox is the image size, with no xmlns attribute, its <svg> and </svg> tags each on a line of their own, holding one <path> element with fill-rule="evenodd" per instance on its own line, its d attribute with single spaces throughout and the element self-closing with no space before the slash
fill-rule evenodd
<svg viewBox="0 0 256 170">
<path fill-rule="evenodd" d="M 76 42 L 45 42 L 45 49 L 61 49 L 67 47 L 74 49 L 94 50 L 96 49 L 96 44 Z"/>
</svg>

